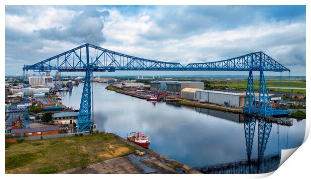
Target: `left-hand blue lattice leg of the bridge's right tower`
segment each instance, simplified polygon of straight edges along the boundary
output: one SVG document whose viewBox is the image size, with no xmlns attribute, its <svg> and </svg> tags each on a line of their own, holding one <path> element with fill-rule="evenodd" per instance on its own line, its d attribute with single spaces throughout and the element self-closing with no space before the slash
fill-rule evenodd
<svg viewBox="0 0 311 179">
<path fill-rule="evenodd" d="M 244 101 L 244 113 L 256 113 L 256 96 L 254 90 L 253 72 L 249 71 L 247 89 Z"/>
</svg>

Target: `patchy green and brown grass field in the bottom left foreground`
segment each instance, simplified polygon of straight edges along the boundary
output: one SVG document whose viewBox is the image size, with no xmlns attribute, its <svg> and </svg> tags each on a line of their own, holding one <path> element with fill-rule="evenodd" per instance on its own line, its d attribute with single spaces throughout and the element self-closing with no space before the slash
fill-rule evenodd
<svg viewBox="0 0 311 179">
<path fill-rule="evenodd" d="M 55 173 L 134 150 L 110 134 L 24 140 L 6 144 L 6 173 Z"/>
</svg>

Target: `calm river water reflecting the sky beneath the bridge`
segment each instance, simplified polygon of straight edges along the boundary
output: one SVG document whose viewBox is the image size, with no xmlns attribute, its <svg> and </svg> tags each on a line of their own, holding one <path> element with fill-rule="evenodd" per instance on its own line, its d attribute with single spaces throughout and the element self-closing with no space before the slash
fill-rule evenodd
<svg viewBox="0 0 311 179">
<path fill-rule="evenodd" d="M 105 86 L 94 83 L 94 118 L 100 131 L 124 138 L 131 131 L 144 131 L 151 149 L 205 173 L 272 171 L 280 150 L 297 147 L 304 138 L 305 119 L 293 119 L 290 127 L 259 124 L 240 114 L 150 102 Z M 80 83 L 64 93 L 63 103 L 79 107 L 82 88 Z M 258 129 L 265 134 L 258 135 Z"/>
</svg>

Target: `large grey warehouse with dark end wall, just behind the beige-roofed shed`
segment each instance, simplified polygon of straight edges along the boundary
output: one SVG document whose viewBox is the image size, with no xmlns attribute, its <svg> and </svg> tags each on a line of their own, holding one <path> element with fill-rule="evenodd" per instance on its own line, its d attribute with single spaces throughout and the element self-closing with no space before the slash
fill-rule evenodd
<svg viewBox="0 0 311 179">
<path fill-rule="evenodd" d="M 169 93 L 180 94 L 186 88 L 204 88 L 204 82 L 201 81 L 169 81 L 167 82 L 166 91 Z"/>
</svg>

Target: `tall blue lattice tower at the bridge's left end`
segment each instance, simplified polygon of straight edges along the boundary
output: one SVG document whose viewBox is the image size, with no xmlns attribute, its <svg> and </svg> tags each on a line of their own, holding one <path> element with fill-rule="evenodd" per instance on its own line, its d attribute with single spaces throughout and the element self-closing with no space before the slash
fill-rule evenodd
<svg viewBox="0 0 311 179">
<path fill-rule="evenodd" d="M 89 131 L 92 126 L 91 118 L 91 74 L 93 72 L 89 63 L 88 46 L 86 46 L 86 72 L 83 85 L 83 92 L 80 102 L 79 116 L 78 116 L 78 132 Z"/>
</svg>

